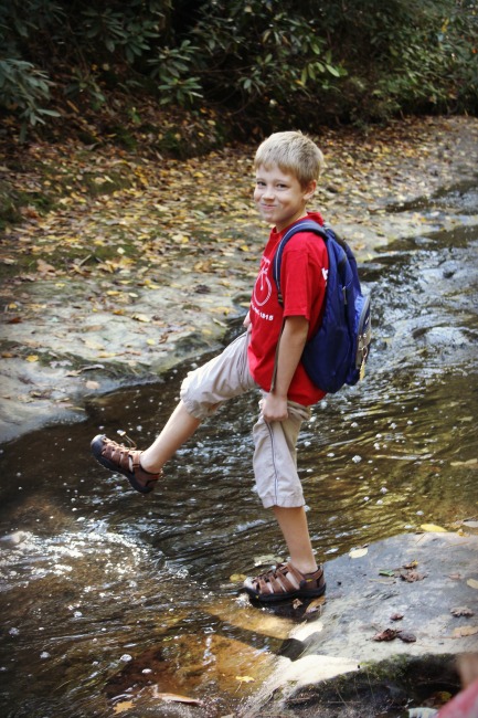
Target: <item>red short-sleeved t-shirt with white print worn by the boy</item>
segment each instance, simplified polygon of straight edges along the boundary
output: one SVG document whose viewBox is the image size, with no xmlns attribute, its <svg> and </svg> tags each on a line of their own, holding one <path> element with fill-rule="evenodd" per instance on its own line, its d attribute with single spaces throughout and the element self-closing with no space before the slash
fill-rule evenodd
<svg viewBox="0 0 478 718">
<path fill-rule="evenodd" d="M 308 218 L 323 224 L 319 212 L 308 212 Z M 248 361 L 255 382 L 264 391 L 270 391 L 283 319 L 305 317 L 309 321 L 310 338 L 320 325 L 326 294 L 329 268 L 326 244 L 314 232 L 299 232 L 284 249 L 280 265 L 284 307 L 280 306 L 274 282 L 273 260 L 277 245 L 288 229 L 283 232 L 272 230 L 251 298 L 252 336 Z M 288 399 L 310 406 L 325 397 L 325 393 L 311 382 L 299 362 L 290 382 Z"/>
</svg>

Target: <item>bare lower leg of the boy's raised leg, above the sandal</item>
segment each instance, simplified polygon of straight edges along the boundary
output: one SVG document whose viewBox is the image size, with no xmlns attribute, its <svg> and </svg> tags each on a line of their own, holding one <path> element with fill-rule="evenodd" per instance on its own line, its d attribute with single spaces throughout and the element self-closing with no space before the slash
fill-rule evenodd
<svg viewBox="0 0 478 718">
<path fill-rule="evenodd" d="M 180 401 L 158 439 L 142 452 L 142 468 L 152 474 L 159 473 L 163 464 L 192 436 L 200 423 L 201 420 L 192 416 Z"/>
</svg>

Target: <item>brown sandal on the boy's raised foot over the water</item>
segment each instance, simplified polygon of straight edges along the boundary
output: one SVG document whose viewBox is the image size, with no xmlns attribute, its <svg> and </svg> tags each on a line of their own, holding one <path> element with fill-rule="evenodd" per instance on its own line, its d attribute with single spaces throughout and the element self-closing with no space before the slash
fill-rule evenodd
<svg viewBox="0 0 478 718">
<path fill-rule="evenodd" d="M 162 475 L 162 472 L 150 474 L 142 468 L 140 464 L 141 451 L 117 444 L 102 434 L 92 441 L 92 453 L 102 466 L 126 476 L 132 488 L 141 494 L 152 492 L 156 482 Z"/>
</svg>

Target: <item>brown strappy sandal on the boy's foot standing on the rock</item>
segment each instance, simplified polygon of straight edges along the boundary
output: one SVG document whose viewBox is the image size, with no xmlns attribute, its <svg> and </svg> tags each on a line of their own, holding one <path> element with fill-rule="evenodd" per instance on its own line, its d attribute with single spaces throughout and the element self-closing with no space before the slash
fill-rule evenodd
<svg viewBox="0 0 478 718">
<path fill-rule="evenodd" d="M 320 567 L 314 573 L 300 573 L 291 563 L 280 563 L 255 579 L 246 579 L 244 589 L 256 601 L 309 599 L 325 593 L 326 580 Z"/>
</svg>

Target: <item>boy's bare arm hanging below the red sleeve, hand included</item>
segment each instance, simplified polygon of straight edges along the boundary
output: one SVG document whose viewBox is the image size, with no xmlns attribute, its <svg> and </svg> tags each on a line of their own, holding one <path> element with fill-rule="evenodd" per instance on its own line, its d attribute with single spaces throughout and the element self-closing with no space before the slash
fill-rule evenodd
<svg viewBox="0 0 478 718">
<path fill-rule="evenodd" d="M 273 391 L 261 402 L 266 421 L 287 419 L 287 392 L 302 356 L 307 341 L 309 323 L 306 317 L 287 317 L 279 339 L 276 381 Z"/>
</svg>

